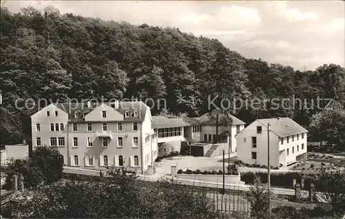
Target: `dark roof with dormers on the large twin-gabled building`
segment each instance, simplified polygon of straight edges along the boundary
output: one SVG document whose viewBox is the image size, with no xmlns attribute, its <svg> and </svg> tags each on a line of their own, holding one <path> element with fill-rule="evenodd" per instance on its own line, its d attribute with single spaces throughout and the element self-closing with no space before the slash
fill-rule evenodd
<svg viewBox="0 0 345 219">
<path fill-rule="evenodd" d="M 104 103 L 106 105 L 109 105 L 108 103 Z M 95 108 L 99 107 L 101 103 L 90 103 L 90 107 L 88 107 L 88 103 L 57 103 L 55 106 L 58 107 L 60 110 L 63 110 L 68 114 L 68 118 L 70 119 L 70 122 L 83 122 L 83 114 L 88 114 L 92 110 L 95 110 Z M 124 121 L 128 122 L 142 122 L 145 119 L 145 114 L 147 110 L 147 105 L 143 103 L 142 101 L 128 101 L 128 102 L 119 102 L 119 108 L 113 110 L 116 110 L 117 112 L 124 115 L 124 113 L 128 110 L 130 112 L 130 117 L 126 118 L 124 117 Z M 139 110 L 140 116 L 134 117 L 134 111 Z M 78 118 L 75 118 L 75 113 L 78 113 Z"/>
</svg>

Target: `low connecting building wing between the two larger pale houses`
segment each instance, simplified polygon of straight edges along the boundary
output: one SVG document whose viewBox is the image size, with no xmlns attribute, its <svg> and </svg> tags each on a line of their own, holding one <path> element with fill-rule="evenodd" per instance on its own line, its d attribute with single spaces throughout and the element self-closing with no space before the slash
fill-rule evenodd
<svg viewBox="0 0 345 219">
<path fill-rule="evenodd" d="M 218 143 L 231 145 L 231 151 L 235 152 L 235 135 L 244 129 L 243 121 L 231 116 L 230 124 L 218 125 Z M 214 121 L 211 121 L 208 114 L 193 118 L 167 118 L 165 116 L 152 116 L 153 128 L 158 133 L 159 154 L 169 154 L 172 151 L 179 152 L 181 142 L 208 143 L 217 142 L 217 130 Z M 228 149 L 226 149 L 228 152 Z"/>
</svg>

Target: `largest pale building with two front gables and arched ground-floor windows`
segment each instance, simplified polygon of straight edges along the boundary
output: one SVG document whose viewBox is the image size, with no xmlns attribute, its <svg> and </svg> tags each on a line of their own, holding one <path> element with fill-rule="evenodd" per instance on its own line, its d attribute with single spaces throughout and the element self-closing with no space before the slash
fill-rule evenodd
<svg viewBox="0 0 345 219">
<path fill-rule="evenodd" d="M 150 108 L 141 101 L 50 104 L 31 121 L 33 148 L 57 146 L 68 166 L 126 166 L 142 173 L 157 158 Z"/>
</svg>

